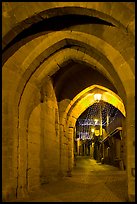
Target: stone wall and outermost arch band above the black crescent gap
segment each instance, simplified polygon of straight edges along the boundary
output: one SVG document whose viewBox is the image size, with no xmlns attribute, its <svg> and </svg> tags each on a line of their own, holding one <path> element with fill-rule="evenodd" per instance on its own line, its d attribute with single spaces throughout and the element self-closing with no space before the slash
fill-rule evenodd
<svg viewBox="0 0 137 204">
<path fill-rule="evenodd" d="M 31 10 L 28 12 L 28 5 L 31 7 Z M 31 2 L 28 4 L 22 3 L 20 5 L 16 5 L 16 3 L 3 3 L 3 23 L 6 22 L 7 18 L 14 13 L 14 20 L 12 25 L 6 26 L 3 30 L 3 47 L 7 45 L 7 43 L 11 42 L 11 40 L 17 36 L 21 31 L 25 30 L 33 23 L 39 22 L 43 19 L 48 19 L 53 16 L 58 16 L 64 14 L 73 14 L 76 13 L 82 15 L 89 15 L 101 18 L 103 20 L 107 20 L 111 22 L 117 27 L 122 29 L 128 29 L 129 32 L 133 32 L 134 29 L 134 14 L 132 13 L 132 8 L 134 4 L 129 3 L 112 3 L 107 4 L 106 2 L 58 2 L 58 3 L 46 3 L 39 2 L 39 6 L 36 6 L 35 3 Z M 120 15 L 121 9 L 125 10 L 127 14 L 127 18 Z M 24 15 L 20 16 L 20 12 Z M 119 13 L 119 15 L 117 15 Z M 132 13 L 132 17 L 131 17 Z M 27 21 L 29 23 L 27 23 Z M 127 27 L 128 25 L 128 27 Z M 14 28 L 16 32 L 14 31 Z"/>
</svg>

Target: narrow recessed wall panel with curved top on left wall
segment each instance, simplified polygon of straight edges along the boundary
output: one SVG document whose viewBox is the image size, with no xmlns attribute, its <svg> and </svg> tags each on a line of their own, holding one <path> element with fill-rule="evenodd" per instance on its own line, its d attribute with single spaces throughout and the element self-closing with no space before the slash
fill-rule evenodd
<svg viewBox="0 0 137 204">
<path fill-rule="evenodd" d="M 40 187 L 40 146 L 41 144 L 41 106 L 38 105 L 31 113 L 28 124 L 27 141 L 27 190 L 29 192 Z M 35 158 L 35 160 L 33 159 Z"/>
</svg>

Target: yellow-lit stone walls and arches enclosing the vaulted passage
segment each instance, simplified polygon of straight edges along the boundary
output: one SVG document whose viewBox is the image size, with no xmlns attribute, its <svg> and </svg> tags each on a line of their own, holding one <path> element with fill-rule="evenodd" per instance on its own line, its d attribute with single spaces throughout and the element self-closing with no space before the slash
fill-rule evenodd
<svg viewBox="0 0 137 204">
<path fill-rule="evenodd" d="M 134 6 L 2 2 L 3 201 L 73 167 L 73 128 L 95 85 L 122 101 L 128 199 L 135 199 Z"/>
</svg>

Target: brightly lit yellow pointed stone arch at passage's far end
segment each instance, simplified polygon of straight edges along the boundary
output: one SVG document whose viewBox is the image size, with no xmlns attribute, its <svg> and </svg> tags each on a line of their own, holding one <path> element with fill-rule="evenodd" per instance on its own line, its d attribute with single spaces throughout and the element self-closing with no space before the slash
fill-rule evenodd
<svg viewBox="0 0 137 204">
<path fill-rule="evenodd" d="M 123 116 L 126 116 L 125 107 L 122 100 L 112 92 L 111 90 L 99 86 L 92 85 L 91 87 L 86 88 L 81 93 L 79 93 L 67 106 L 66 111 L 64 111 L 64 115 L 60 120 L 61 127 L 64 127 L 64 132 L 68 138 L 68 172 L 70 172 L 73 168 L 74 163 L 74 154 L 73 154 L 73 141 L 74 141 L 74 129 L 75 123 L 78 117 L 91 105 L 95 103 L 94 94 L 96 92 L 102 92 L 102 100 L 104 102 L 111 103 L 117 109 L 121 111 Z M 62 128 L 61 128 L 62 130 Z M 126 131 L 123 129 L 123 131 Z M 124 134 L 124 133 L 123 133 Z M 62 132 L 63 135 L 63 132 Z M 62 143 L 63 145 L 63 143 Z M 62 152 L 63 155 L 63 152 Z"/>
</svg>

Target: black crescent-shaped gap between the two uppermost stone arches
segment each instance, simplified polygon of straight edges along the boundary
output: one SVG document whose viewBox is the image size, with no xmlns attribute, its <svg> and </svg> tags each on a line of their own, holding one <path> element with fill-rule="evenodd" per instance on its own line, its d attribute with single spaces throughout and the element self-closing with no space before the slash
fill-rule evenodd
<svg viewBox="0 0 137 204">
<path fill-rule="evenodd" d="M 33 23 L 31 26 L 20 32 L 12 41 L 10 41 L 7 44 L 7 46 L 3 49 L 2 63 L 4 64 L 7 61 L 7 59 L 11 55 L 13 55 L 16 52 L 16 50 L 18 50 L 21 46 L 23 46 L 24 44 L 38 36 L 53 31 L 67 29 L 70 26 L 82 24 L 100 24 L 114 26 L 113 24 L 100 18 L 86 15 L 70 14 L 47 18 L 39 22 Z"/>
</svg>

